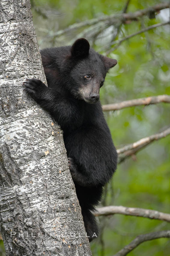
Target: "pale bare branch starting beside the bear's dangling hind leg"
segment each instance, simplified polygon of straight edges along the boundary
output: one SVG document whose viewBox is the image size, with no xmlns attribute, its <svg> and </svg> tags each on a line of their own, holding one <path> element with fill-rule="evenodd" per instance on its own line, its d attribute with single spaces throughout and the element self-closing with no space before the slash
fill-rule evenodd
<svg viewBox="0 0 170 256">
<path fill-rule="evenodd" d="M 95 216 L 100 215 L 111 215 L 111 214 L 124 214 L 130 216 L 139 216 L 155 220 L 164 220 L 170 222 L 170 214 L 154 211 L 150 209 L 143 208 L 131 208 L 124 206 L 104 206 L 97 208 L 97 211 L 94 212 Z"/>
</svg>

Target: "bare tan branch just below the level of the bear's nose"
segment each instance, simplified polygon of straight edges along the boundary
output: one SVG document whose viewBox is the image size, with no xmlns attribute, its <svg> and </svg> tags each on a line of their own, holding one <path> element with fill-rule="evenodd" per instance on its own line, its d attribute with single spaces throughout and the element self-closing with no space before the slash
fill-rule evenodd
<svg viewBox="0 0 170 256">
<path fill-rule="evenodd" d="M 103 111 L 110 111 L 110 110 L 119 110 L 122 108 L 128 108 L 132 106 L 157 104 L 161 102 L 170 103 L 170 96 L 165 94 L 165 95 L 151 96 L 146 98 L 133 99 L 128 101 L 122 101 L 119 103 L 103 105 L 102 108 L 103 108 Z"/>
</svg>

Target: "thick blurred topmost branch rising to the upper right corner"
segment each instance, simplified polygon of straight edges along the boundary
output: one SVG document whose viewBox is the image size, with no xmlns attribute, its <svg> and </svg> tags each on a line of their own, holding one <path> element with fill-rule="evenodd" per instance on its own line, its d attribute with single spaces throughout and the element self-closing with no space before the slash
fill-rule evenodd
<svg viewBox="0 0 170 256">
<path fill-rule="evenodd" d="M 150 11 L 160 11 L 162 9 L 165 8 L 169 8 L 169 3 L 168 2 L 163 2 L 163 3 L 159 3 L 157 5 L 154 5 L 152 7 L 149 7 L 147 9 L 143 9 L 143 10 L 139 10 L 139 11 L 135 11 L 134 13 L 122 13 L 122 14 L 111 14 L 111 15 L 104 15 L 102 17 L 99 18 L 94 18 L 91 20 L 85 20 L 79 23 L 74 23 L 73 25 L 70 25 L 69 27 L 67 27 L 66 29 L 63 30 L 59 30 L 56 33 L 54 33 L 51 36 L 61 36 L 67 32 L 70 32 L 74 29 L 78 29 L 81 27 L 85 27 L 85 26 L 91 26 L 94 25 L 100 21 L 106 21 L 108 26 L 114 24 L 114 23 L 119 23 L 120 20 L 122 20 L 123 22 L 126 22 L 127 20 L 137 20 L 138 17 L 147 15 L 148 13 L 150 13 Z"/>
</svg>

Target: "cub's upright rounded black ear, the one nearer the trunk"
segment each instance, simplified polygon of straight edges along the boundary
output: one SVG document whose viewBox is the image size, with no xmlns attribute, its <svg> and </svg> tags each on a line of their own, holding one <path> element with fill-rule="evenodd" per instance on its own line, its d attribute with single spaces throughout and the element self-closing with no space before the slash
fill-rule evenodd
<svg viewBox="0 0 170 256">
<path fill-rule="evenodd" d="M 89 53 L 89 42 L 85 38 L 77 39 L 71 47 L 72 57 L 85 58 Z"/>
</svg>

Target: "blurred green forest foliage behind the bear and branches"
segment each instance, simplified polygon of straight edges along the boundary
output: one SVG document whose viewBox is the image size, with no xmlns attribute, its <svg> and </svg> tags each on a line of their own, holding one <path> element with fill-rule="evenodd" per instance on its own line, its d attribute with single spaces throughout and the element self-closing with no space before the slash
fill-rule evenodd
<svg viewBox="0 0 170 256">
<path fill-rule="evenodd" d="M 122 13 L 127 1 L 111 0 L 32 0 L 33 22 L 40 48 L 69 45 L 85 37 L 93 48 L 105 54 L 111 42 L 169 19 L 169 9 L 156 18 L 144 16 L 138 21 L 105 27 L 103 23 L 54 36 L 73 23 L 103 15 Z M 131 0 L 127 12 L 156 5 L 160 1 Z M 117 33 L 119 27 L 119 33 Z M 100 89 L 102 104 L 133 98 L 170 95 L 170 26 L 141 33 L 123 42 L 108 55 L 118 64 L 107 74 Z M 170 105 L 161 103 L 105 113 L 116 148 L 170 126 Z M 107 186 L 105 205 L 149 208 L 170 213 L 170 136 L 153 142 L 136 155 L 119 164 Z M 93 256 L 111 256 L 137 235 L 170 229 L 170 223 L 159 220 L 113 215 L 100 217 L 101 236 L 91 243 Z M 2 241 L 0 241 L 2 244 Z M 1 246 L 1 245 L 0 245 Z M 1 247 L 0 247 L 1 248 Z M 4 255 L 0 251 L 0 255 Z M 129 256 L 169 256 L 170 239 L 162 238 L 139 245 Z"/>
</svg>

